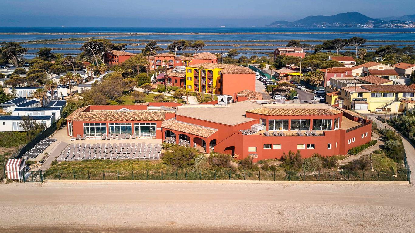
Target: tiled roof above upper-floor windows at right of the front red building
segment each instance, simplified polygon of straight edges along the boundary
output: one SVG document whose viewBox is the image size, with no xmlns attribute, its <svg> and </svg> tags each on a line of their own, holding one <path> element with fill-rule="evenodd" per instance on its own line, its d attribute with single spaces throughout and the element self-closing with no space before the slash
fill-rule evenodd
<svg viewBox="0 0 415 233">
<path fill-rule="evenodd" d="M 341 113 L 341 111 L 337 109 L 329 109 L 329 108 L 322 108 L 322 109 L 301 109 L 301 108 L 257 108 L 248 110 L 247 112 L 267 115 L 267 116 L 320 116 L 320 115 L 336 115 Z"/>
</svg>

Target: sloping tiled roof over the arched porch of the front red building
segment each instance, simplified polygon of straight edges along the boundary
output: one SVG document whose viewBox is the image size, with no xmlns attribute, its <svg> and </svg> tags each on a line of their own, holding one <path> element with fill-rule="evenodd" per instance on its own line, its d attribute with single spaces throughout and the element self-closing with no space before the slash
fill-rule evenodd
<svg viewBox="0 0 415 233">
<path fill-rule="evenodd" d="M 180 131 L 183 133 L 190 133 L 196 136 L 201 136 L 204 138 L 209 137 L 213 133 L 216 133 L 217 129 L 205 127 L 205 126 L 199 126 L 195 124 L 189 124 L 181 121 L 176 121 L 175 119 L 169 119 L 166 121 L 163 121 L 161 123 L 162 128 L 166 129 L 172 129 L 176 131 Z"/>
</svg>

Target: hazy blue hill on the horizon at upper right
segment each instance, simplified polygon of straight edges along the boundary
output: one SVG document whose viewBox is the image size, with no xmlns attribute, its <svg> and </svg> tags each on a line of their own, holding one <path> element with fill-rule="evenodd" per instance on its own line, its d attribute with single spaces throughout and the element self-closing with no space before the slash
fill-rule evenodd
<svg viewBox="0 0 415 233">
<path fill-rule="evenodd" d="M 275 21 L 265 27 L 408 27 L 414 22 L 382 20 L 367 17 L 359 12 L 347 12 L 330 16 L 308 16 L 294 22 Z"/>
</svg>

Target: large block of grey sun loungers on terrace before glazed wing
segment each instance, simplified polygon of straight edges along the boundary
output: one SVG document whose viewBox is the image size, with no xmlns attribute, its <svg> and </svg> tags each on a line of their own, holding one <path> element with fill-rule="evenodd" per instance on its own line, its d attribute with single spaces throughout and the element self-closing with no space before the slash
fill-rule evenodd
<svg viewBox="0 0 415 233">
<path fill-rule="evenodd" d="M 71 143 L 58 157 L 58 161 L 85 159 L 159 159 L 161 146 L 149 143 L 97 143 L 85 145 Z"/>
</svg>

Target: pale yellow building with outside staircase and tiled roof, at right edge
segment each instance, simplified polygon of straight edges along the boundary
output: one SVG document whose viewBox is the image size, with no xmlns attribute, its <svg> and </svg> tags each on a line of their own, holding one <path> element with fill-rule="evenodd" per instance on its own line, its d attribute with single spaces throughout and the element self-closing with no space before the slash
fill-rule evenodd
<svg viewBox="0 0 415 233">
<path fill-rule="evenodd" d="M 402 112 L 402 100 L 414 100 L 415 90 L 407 85 L 362 85 L 340 90 L 342 107 L 355 111 Z M 356 106 L 355 106 L 356 105 Z"/>
</svg>

